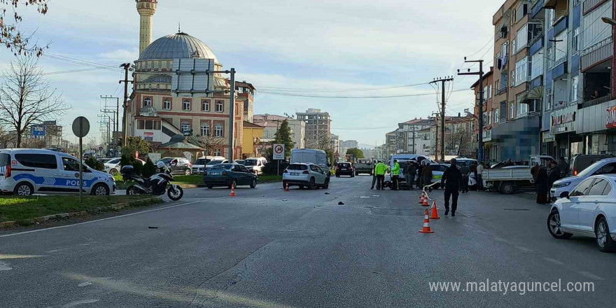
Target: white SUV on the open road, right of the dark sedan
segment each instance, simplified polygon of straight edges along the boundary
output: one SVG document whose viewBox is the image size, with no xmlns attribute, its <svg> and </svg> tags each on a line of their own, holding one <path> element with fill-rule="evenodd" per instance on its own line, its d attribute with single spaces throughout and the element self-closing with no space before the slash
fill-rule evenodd
<svg viewBox="0 0 616 308">
<path fill-rule="evenodd" d="M 307 187 L 313 189 L 317 187 L 328 189 L 330 179 L 328 171 L 323 170 L 318 165 L 312 163 L 290 164 L 282 174 L 282 185 L 284 188 L 299 186 L 300 189 Z"/>
</svg>

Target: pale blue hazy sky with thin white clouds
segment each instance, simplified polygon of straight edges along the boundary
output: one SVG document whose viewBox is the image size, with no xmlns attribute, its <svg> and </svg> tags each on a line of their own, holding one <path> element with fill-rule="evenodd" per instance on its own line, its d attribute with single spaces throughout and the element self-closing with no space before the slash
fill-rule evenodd
<svg viewBox="0 0 616 308">
<path fill-rule="evenodd" d="M 257 92 L 255 113 L 328 111 L 332 132 L 342 140 L 384 142 L 397 123 L 437 110 L 435 90 L 426 83 L 453 75 L 463 57 L 493 62 L 495 0 L 159 0 L 154 39 L 182 31 L 214 50 L 226 69 L 257 90 L 321 95 L 297 97 Z M 94 3 L 96 3 L 94 5 Z M 22 12 L 26 13 L 25 10 Z M 134 0 L 52 0 L 48 15 L 26 13 L 23 31 L 51 42 L 40 63 L 46 72 L 87 69 L 53 55 L 119 66 L 138 57 L 139 15 Z M 0 50 L 3 67 L 12 55 Z M 101 95 L 121 96 L 120 71 L 97 70 L 48 75 L 73 109 L 62 123 L 86 116 L 97 134 Z M 475 78 L 457 78 L 453 89 L 468 89 Z M 289 90 L 277 90 L 288 88 Z M 388 88 L 390 87 L 390 88 Z M 377 90 L 375 90 L 377 88 Z M 388 88 L 388 89 L 382 89 Z M 309 90 L 297 90 L 309 89 Z M 341 97 L 426 96 L 360 99 Z M 453 92 L 447 115 L 472 108 L 472 91 Z M 99 136 L 99 134 L 97 135 Z"/>
</svg>

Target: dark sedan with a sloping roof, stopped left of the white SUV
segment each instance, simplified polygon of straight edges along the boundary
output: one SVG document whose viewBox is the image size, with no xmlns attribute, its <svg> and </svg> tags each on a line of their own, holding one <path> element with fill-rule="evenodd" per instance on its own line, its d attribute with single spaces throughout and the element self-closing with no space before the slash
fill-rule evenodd
<svg viewBox="0 0 616 308">
<path fill-rule="evenodd" d="M 211 169 L 207 169 L 203 176 L 203 183 L 207 188 L 220 186 L 241 186 L 247 185 L 251 188 L 257 187 L 258 177 L 248 171 L 243 165 L 233 164 L 218 164 Z"/>
</svg>

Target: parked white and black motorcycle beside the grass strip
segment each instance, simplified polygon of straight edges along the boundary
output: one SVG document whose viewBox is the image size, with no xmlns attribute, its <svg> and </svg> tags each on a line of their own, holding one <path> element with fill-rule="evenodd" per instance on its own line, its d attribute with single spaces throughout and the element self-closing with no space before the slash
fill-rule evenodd
<svg viewBox="0 0 616 308">
<path fill-rule="evenodd" d="M 182 199 L 184 190 L 177 185 L 172 185 L 174 177 L 170 174 L 169 168 L 159 162 L 157 165 L 158 173 L 150 176 L 148 179 L 135 174 L 134 168 L 130 165 L 122 167 L 120 173 L 125 181 L 134 181 L 134 185 L 126 189 L 126 195 L 165 195 L 173 201 Z"/>
</svg>

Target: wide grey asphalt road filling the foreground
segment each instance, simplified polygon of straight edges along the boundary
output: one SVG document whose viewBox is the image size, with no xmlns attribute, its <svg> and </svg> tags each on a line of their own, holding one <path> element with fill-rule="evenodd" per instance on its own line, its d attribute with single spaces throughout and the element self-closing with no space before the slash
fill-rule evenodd
<svg viewBox="0 0 616 308">
<path fill-rule="evenodd" d="M 615 254 L 553 239 L 549 207 L 469 193 L 430 221 L 415 191 L 186 190 L 181 202 L 0 232 L 1 307 L 611 307 Z M 328 194 L 326 194 L 328 193 Z M 440 215 L 442 191 L 435 190 Z M 344 202 L 339 205 L 338 202 Z M 430 282 L 592 282 L 591 292 L 433 292 Z M 479 285 L 478 285 L 479 286 Z"/>
</svg>

